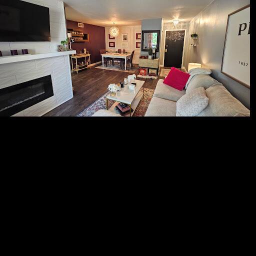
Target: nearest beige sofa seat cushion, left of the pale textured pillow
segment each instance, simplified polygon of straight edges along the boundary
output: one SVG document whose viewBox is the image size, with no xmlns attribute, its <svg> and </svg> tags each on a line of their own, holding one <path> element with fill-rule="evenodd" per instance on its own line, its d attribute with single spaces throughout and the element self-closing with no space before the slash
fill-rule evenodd
<svg viewBox="0 0 256 256">
<path fill-rule="evenodd" d="M 176 102 L 153 97 L 145 116 L 176 116 Z"/>
</svg>

